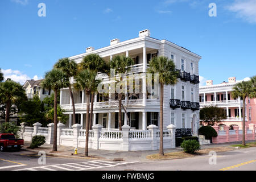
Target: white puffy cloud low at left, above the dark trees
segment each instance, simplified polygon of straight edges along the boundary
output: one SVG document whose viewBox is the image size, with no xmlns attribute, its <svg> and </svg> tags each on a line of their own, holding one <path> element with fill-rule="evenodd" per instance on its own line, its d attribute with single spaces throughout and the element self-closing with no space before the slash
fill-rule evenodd
<svg viewBox="0 0 256 182">
<path fill-rule="evenodd" d="M 27 76 L 26 74 L 23 74 L 18 70 L 2 69 L 2 73 L 3 73 L 3 76 L 5 77 L 5 80 L 7 78 L 11 78 L 11 80 L 19 82 L 20 84 L 24 84 L 26 80 L 31 80 L 29 76 Z M 38 80 L 39 77 L 35 75 L 33 79 Z M 42 79 L 42 77 L 40 77 L 40 79 Z"/>
</svg>

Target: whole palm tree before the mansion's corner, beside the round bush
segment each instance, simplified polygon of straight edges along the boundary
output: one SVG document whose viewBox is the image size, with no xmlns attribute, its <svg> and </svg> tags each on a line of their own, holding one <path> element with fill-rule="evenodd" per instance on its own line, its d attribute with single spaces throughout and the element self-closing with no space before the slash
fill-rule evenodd
<svg viewBox="0 0 256 182">
<path fill-rule="evenodd" d="M 160 147 L 159 154 L 164 155 L 163 151 L 163 91 L 164 85 L 174 85 L 177 82 L 179 72 L 175 71 L 174 61 L 168 57 L 153 57 L 149 62 L 150 67 L 147 73 L 159 74 L 160 84 Z"/>
</svg>

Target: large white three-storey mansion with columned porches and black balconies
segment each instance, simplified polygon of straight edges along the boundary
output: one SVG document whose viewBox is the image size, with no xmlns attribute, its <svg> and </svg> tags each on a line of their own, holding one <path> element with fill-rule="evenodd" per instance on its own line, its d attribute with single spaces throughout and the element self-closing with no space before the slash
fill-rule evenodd
<svg viewBox="0 0 256 182">
<path fill-rule="evenodd" d="M 178 82 L 174 86 L 164 86 L 164 128 L 170 124 L 177 129 L 191 129 L 197 134 L 199 128 L 199 60 L 201 56 L 177 46 L 168 40 L 158 40 L 150 37 L 149 30 L 139 32 L 139 37 L 119 42 L 119 39 L 110 40 L 110 46 L 96 49 L 86 48 L 85 53 L 69 57 L 80 63 L 82 58 L 96 53 L 109 61 L 115 55 L 126 55 L 134 59 L 131 73 L 145 73 L 148 61 L 152 56 L 166 56 L 174 60 L 176 69 L 180 70 Z M 103 80 L 104 81 L 104 80 Z M 143 82 L 143 81 L 142 81 Z M 143 84 L 142 85 L 146 85 Z M 84 90 L 74 92 L 77 122 L 85 128 L 86 98 Z M 118 129 L 118 104 L 110 105 L 109 97 L 97 94 L 94 98 L 93 125 L 100 124 L 105 129 Z M 117 101 L 118 102 L 118 101 Z M 159 125 L 159 97 L 138 94 L 138 97 L 125 98 L 129 123 L 123 111 L 124 125 L 131 129 L 147 130 L 149 125 Z M 71 128 L 72 104 L 68 88 L 61 89 L 60 106 L 69 114 L 67 127 Z"/>
</svg>

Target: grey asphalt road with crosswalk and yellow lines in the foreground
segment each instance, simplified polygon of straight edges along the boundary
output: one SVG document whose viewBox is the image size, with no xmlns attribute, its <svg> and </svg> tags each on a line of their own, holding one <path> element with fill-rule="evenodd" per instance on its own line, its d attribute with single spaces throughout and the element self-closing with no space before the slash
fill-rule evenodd
<svg viewBox="0 0 256 182">
<path fill-rule="evenodd" d="M 211 158 L 210 158 L 211 157 Z M 187 159 L 154 160 L 143 162 L 113 162 L 104 160 L 89 160 L 75 158 L 58 158 L 46 156 L 44 160 L 35 152 L 7 151 L 0 152 L 0 171 L 83 171 L 83 170 L 256 170 L 256 147 L 244 148 L 229 152 L 218 153 L 216 164 L 212 156 L 196 156 Z M 209 164 L 209 158 L 211 163 Z M 39 162 L 38 162 L 39 161 Z"/>
</svg>

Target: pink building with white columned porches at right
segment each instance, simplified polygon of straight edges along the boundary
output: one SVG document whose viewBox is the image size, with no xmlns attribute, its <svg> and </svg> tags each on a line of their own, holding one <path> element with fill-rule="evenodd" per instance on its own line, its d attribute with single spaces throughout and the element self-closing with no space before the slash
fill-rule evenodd
<svg viewBox="0 0 256 182">
<path fill-rule="evenodd" d="M 237 84 L 236 77 L 228 78 L 228 82 L 213 85 L 213 80 L 208 80 L 206 86 L 199 88 L 200 109 L 205 106 L 218 106 L 225 110 L 227 119 L 222 121 L 223 125 L 237 125 L 242 127 L 243 101 L 241 98 L 232 98 L 233 87 Z M 256 98 L 246 98 L 245 123 L 249 127 L 250 123 L 256 124 Z M 224 130 L 220 126 L 220 130 Z"/>
</svg>

